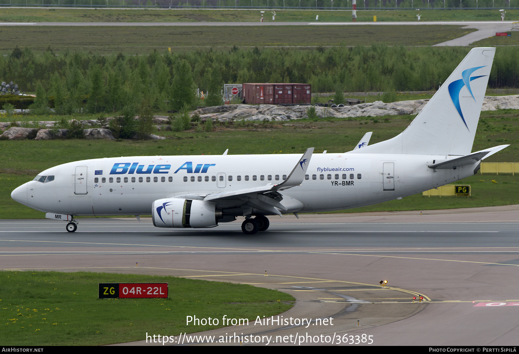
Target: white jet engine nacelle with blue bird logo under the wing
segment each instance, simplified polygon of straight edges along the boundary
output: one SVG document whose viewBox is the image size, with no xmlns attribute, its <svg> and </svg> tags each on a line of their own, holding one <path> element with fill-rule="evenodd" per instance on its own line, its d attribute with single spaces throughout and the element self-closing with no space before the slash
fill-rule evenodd
<svg viewBox="0 0 519 354">
<path fill-rule="evenodd" d="M 157 227 L 213 227 L 218 225 L 222 212 L 216 204 L 196 199 L 157 199 L 152 205 L 153 225 Z"/>
</svg>

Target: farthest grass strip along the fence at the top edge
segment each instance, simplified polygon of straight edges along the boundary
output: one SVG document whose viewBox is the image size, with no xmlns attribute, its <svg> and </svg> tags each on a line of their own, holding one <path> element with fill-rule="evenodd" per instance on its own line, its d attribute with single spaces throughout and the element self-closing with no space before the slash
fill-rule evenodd
<svg viewBox="0 0 519 354">
<path fill-rule="evenodd" d="M 358 5 L 360 6 L 360 5 Z M 320 22 L 350 22 L 351 10 L 278 10 L 276 21 L 310 22 L 319 15 Z M 357 21 L 416 21 L 415 10 L 363 10 L 357 7 Z M 269 14 L 269 12 L 267 12 Z M 266 15 L 267 15 L 266 14 Z M 259 22 L 258 10 L 225 9 L 73 9 L 9 8 L 0 9 L 0 22 Z M 420 8 L 422 21 L 499 21 L 497 10 L 442 10 Z M 519 19 L 519 10 L 507 9 L 507 20 Z M 265 16 L 270 22 L 271 17 Z"/>
</svg>

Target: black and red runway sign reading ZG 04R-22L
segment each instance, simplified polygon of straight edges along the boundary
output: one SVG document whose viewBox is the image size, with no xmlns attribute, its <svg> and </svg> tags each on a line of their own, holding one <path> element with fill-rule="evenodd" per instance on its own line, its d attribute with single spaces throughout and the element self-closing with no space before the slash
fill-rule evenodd
<svg viewBox="0 0 519 354">
<path fill-rule="evenodd" d="M 99 283 L 99 298 L 168 297 L 168 283 Z"/>
</svg>

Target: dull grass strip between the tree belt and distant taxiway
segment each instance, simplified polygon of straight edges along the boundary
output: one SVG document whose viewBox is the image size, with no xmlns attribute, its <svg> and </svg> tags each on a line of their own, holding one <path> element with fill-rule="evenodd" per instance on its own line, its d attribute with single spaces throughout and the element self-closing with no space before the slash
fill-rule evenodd
<svg viewBox="0 0 519 354">
<path fill-rule="evenodd" d="M 4 26 L 0 52 L 15 46 L 54 51 L 82 50 L 101 54 L 149 53 L 154 49 L 265 46 L 429 46 L 475 31 L 460 26 Z M 59 40 L 56 40 L 59 38 Z"/>
</svg>

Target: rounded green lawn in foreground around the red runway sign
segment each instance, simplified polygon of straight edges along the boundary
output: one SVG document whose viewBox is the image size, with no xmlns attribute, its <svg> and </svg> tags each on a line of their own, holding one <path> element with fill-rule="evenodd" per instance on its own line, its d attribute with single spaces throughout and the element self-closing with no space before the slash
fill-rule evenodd
<svg viewBox="0 0 519 354">
<path fill-rule="evenodd" d="M 0 272 L 2 345 L 103 345 L 140 341 L 148 334 L 179 335 L 221 328 L 230 318 L 268 317 L 295 299 L 277 290 L 165 276 Z M 167 282 L 167 299 L 99 299 L 100 282 Z M 186 325 L 186 316 L 220 325 Z"/>
</svg>

